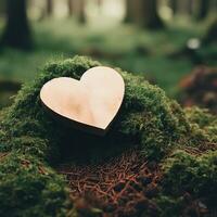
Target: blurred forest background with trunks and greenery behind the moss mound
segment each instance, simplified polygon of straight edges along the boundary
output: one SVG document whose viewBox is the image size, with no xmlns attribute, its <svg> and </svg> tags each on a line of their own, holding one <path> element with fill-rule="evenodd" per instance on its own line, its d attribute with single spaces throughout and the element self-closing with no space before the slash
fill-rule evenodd
<svg viewBox="0 0 217 217">
<path fill-rule="evenodd" d="M 76 54 L 216 108 L 217 76 L 191 89 L 188 75 L 217 74 L 217 0 L 0 0 L 0 107 L 46 62 Z"/>
</svg>

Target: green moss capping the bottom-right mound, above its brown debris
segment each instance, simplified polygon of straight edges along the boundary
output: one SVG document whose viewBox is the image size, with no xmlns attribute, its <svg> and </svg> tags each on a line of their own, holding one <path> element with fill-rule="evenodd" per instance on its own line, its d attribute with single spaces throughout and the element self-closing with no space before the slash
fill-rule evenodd
<svg viewBox="0 0 217 217">
<path fill-rule="evenodd" d="M 193 156 L 177 151 L 164 164 L 163 192 L 180 196 L 189 192 L 194 197 L 205 200 L 215 206 L 217 201 L 217 151 L 202 156 Z"/>
</svg>

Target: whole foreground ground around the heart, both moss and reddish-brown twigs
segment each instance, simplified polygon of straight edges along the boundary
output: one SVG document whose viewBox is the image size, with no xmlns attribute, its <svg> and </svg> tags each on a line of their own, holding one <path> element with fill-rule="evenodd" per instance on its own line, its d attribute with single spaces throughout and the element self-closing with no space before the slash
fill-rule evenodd
<svg viewBox="0 0 217 217">
<path fill-rule="evenodd" d="M 8 113 L 2 112 L 0 152 L 11 154 L 0 166 L 4 177 L 0 197 L 8 216 L 13 216 L 10 206 L 14 203 L 21 214 L 42 215 L 59 207 L 66 212 L 62 207 L 72 201 L 72 212 L 82 217 L 215 216 L 216 116 L 195 107 L 182 110 L 164 91 L 130 74 L 123 74 L 126 101 L 106 137 L 79 130 L 68 133 L 46 116 L 38 101 L 40 87 L 53 77 L 79 77 L 95 64 L 76 56 L 47 65 L 40 79 L 20 92 Z M 41 159 L 44 163 L 39 164 Z M 56 159 L 55 174 L 46 164 Z M 59 179 L 58 174 L 66 179 Z M 41 183 L 44 194 L 36 193 Z M 67 201 L 66 184 L 71 188 Z M 12 187 L 14 194 L 9 193 Z M 28 207 L 17 200 L 23 189 L 40 205 Z M 52 208 L 43 208 L 44 204 Z"/>
</svg>

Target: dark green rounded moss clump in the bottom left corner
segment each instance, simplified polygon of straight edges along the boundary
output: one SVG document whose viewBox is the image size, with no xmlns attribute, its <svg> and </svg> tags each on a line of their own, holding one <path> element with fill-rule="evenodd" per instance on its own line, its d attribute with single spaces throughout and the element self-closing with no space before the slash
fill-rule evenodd
<svg viewBox="0 0 217 217">
<path fill-rule="evenodd" d="M 66 216 L 72 208 L 65 183 L 30 155 L 0 158 L 0 216 Z"/>
</svg>

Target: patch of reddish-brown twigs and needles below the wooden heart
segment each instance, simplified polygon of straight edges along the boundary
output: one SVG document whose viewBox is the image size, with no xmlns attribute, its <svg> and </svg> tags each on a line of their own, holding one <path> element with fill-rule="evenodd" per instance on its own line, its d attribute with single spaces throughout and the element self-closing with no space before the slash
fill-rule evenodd
<svg viewBox="0 0 217 217">
<path fill-rule="evenodd" d="M 158 193 L 159 168 L 148 164 L 139 151 L 102 165 L 62 164 L 58 170 L 66 175 L 72 199 L 82 214 L 89 206 L 102 209 L 103 216 L 139 216 L 148 207 L 156 212 L 150 199 Z"/>
</svg>

